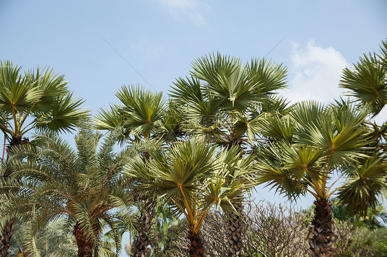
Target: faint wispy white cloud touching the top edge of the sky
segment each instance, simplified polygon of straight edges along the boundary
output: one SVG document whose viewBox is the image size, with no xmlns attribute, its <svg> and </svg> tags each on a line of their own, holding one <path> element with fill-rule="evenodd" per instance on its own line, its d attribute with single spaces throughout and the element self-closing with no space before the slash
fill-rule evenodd
<svg viewBox="0 0 387 257">
<path fill-rule="evenodd" d="M 205 25 L 207 21 L 202 12 L 209 10 L 209 5 L 198 0 L 154 0 L 165 8 L 175 19 L 187 19 L 195 25 Z"/>
</svg>

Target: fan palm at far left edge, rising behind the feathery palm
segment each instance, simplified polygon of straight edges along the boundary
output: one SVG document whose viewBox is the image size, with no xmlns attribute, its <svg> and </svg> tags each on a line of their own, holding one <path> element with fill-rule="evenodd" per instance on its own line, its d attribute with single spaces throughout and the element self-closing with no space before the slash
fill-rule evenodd
<svg viewBox="0 0 387 257">
<path fill-rule="evenodd" d="M 70 131 L 85 113 L 81 98 L 73 98 L 64 76 L 50 69 L 26 71 L 10 61 L 0 61 L 0 130 L 10 147 L 28 142 L 32 130 Z M 3 172 L 7 179 L 9 172 Z M 8 255 L 13 221 L 1 225 L 0 256 Z"/>
</svg>

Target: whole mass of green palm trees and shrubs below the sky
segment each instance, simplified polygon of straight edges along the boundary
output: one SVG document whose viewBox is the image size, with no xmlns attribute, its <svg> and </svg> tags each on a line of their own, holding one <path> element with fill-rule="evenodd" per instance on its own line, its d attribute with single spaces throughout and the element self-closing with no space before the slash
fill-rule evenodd
<svg viewBox="0 0 387 257">
<path fill-rule="evenodd" d="M 114 257 L 125 232 L 132 257 L 386 255 L 387 122 L 373 122 L 387 102 L 386 63 L 383 41 L 344 69 L 350 98 L 289 106 L 276 96 L 282 65 L 209 54 L 170 99 L 121 87 L 73 149 L 59 133 L 87 111 L 64 76 L 1 62 L 1 256 Z M 108 131 L 101 144 L 92 128 Z M 252 204 L 260 183 L 314 205 Z"/>
</svg>

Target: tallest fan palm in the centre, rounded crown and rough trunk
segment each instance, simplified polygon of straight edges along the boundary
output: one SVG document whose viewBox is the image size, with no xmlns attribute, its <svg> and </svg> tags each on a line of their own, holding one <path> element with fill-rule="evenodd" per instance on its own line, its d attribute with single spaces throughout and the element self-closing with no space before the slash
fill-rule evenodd
<svg viewBox="0 0 387 257">
<path fill-rule="evenodd" d="M 219 146 L 251 148 L 265 113 L 284 111 L 275 91 L 286 87 L 286 69 L 263 59 L 242 66 L 238 58 L 212 54 L 192 64 L 191 78 L 174 83 L 170 96 L 185 113 L 187 133 L 203 135 Z M 233 175 L 232 175 L 233 176 Z M 229 256 L 242 256 L 243 205 L 229 216 Z"/>
</svg>

